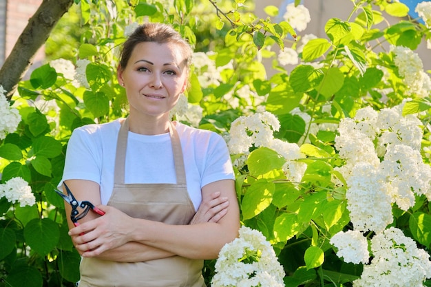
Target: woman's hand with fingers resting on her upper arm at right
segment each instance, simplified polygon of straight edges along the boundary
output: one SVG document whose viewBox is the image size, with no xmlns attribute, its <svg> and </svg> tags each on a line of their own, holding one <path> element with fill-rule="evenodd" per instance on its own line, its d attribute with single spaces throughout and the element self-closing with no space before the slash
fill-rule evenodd
<svg viewBox="0 0 431 287">
<path fill-rule="evenodd" d="M 211 193 L 208 199 L 202 200 L 198 211 L 196 211 L 195 216 L 193 216 L 189 224 L 200 224 L 205 222 L 217 223 L 224 215 L 226 215 L 228 206 L 228 198 L 221 197 L 219 191 Z"/>
</svg>

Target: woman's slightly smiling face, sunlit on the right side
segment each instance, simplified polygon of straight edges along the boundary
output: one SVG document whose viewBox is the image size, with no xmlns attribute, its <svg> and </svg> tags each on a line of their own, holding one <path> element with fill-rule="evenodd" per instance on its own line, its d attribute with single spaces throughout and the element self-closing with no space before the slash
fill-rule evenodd
<svg viewBox="0 0 431 287">
<path fill-rule="evenodd" d="M 125 69 L 118 69 L 118 82 L 126 89 L 131 114 L 169 114 L 187 85 L 184 56 L 174 43 L 138 43 Z"/>
</svg>

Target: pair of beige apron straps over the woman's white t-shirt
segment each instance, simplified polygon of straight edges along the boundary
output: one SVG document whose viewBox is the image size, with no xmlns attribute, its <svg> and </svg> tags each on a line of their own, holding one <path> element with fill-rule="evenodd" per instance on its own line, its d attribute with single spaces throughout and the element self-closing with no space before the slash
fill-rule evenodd
<svg viewBox="0 0 431 287">
<path fill-rule="evenodd" d="M 120 131 L 118 131 L 115 167 L 114 167 L 114 183 L 125 182 L 125 163 L 126 163 L 126 149 L 127 137 L 129 134 L 129 117 L 127 117 L 121 124 Z M 169 122 L 169 136 L 171 137 L 172 153 L 174 154 L 174 164 L 176 172 L 177 184 L 186 184 L 186 173 L 184 166 L 184 158 L 182 156 L 180 136 L 174 123 Z"/>
</svg>

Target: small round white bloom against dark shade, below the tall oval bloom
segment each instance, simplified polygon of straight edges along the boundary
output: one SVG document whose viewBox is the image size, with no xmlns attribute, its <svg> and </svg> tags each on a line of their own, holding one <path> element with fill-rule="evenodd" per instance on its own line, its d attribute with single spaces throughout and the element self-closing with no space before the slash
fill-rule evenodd
<svg viewBox="0 0 431 287">
<path fill-rule="evenodd" d="M 330 239 L 338 251 L 337 256 L 342 257 L 344 262 L 359 264 L 368 263 L 370 253 L 368 252 L 368 242 L 360 231 L 340 231 Z"/>
</svg>

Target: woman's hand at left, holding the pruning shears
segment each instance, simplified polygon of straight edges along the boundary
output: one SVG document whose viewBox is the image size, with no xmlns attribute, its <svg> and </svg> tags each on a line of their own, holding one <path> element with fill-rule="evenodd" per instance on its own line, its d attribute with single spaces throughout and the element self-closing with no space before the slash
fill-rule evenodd
<svg viewBox="0 0 431 287">
<path fill-rule="evenodd" d="M 112 206 L 98 205 L 105 215 L 84 222 L 69 231 L 78 253 L 95 257 L 129 242 L 132 217 Z M 81 235 L 82 234 L 82 235 Z"/>
</svg>

